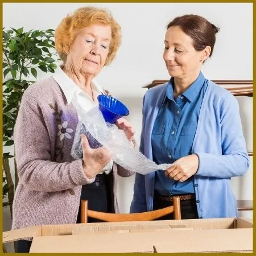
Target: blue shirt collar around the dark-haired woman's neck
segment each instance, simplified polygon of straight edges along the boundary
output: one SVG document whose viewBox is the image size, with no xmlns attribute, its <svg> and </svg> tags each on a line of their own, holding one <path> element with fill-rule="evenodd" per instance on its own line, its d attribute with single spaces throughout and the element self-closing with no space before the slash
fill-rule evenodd
<svg viewBox="0 0 256 256">
<path fill-rule="evenodd" d="M 198 96 L 201 88 L 203 87 L 205 82 L 205 77 L 202 72 L 199 73 L 197 79 L 189 86 L 187 90 L 181 95 L 186 97 L 190 102 L 193 102 Z M 174 78 L 172 77 L 168 83 L 167 94 L 166 96 L 169 100 L 174 101 Z"/>
</svg>

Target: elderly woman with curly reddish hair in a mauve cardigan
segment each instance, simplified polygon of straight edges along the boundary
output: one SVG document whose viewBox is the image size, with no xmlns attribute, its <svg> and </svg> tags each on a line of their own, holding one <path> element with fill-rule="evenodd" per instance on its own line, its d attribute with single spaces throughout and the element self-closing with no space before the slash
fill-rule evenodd
<svg viewBox="0 0 256 256">
<path fill-rule="evenodd" d="M 88 200 L 89 209 L 118 212 L 117 175 L 133 173 L 113 163 L 105 147 L 90 148 L 85 135 L 82 159 L 73 159 L 71 148 L 80 119 L 76 107 L 97 106 L 104 90 L 93 79 L 112 62 L 120 42 L 119 24 L 94 7 L 76 10 L 57 27 L 56 51 L 64 65 L 24 92 L 15 125 L 19 184 L 13 229 L 79 222 L 81 199 Z M 132 142 L 133 127 L 125 119 L 117 126 Z M 30 245 L 18 241 L 16 251 L 26 253 Z"/>
</svg>

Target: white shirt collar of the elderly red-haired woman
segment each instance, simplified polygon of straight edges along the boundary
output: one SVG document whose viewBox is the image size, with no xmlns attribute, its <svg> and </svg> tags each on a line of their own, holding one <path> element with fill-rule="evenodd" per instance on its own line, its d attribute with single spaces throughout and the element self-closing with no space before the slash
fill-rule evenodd
<svg viewBox="0 0 256 256">
<path fill-rule="evenodd" d="M 79 88 L 79 86 L 77 86 L 77 84 L 72 79 L 70 79 L 66 75 L 62 68 L 63 65 L 57 67 L 52 77 L 57 82 L 57 84 L 59 84 L 61 90 L 63 90 L 63 93 L 65 95 L 65 98 L 67 99 L 68 104 L 70 104 L 77 94 L 86 93 L 81 88 Z M 96 80 L 93 79 L 91 85 L 92 89 L 96 91 L 98 94 L 104 93 L 103 89 Z"/>
</svg>

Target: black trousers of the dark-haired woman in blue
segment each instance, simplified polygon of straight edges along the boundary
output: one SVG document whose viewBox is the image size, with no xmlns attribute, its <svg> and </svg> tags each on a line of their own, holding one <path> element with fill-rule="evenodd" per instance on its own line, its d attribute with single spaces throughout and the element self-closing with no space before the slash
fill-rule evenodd
<svg viewBox="0 0 256 256">
<path fill-rule="evenodd" d="M 172 202 L 159 199 L 157 192 L 154 193 L 154 210 L 162 209 L 172 205 Z M 199 218 L 196 207 L 196 199 L 182 200 L 180 201 L 181 219 Z M 160 217 L 157 220 L 173 220 L 174 214 L 170 213 L 166 216 Z"/>
</svg>

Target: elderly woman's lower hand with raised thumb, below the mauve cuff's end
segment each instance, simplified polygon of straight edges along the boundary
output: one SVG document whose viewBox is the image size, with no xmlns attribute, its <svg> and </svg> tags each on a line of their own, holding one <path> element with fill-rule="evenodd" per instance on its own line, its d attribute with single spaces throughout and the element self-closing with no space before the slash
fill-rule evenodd
<svg viewBox="0 0 256 256">
<path fill-rule="evenodd" d="M 81 142 L 84 174 L 92 179 L 111 160 L 112 154 L 106 147 L 91 148 L 84 134 L 81 134 Z"/>
</svg>

